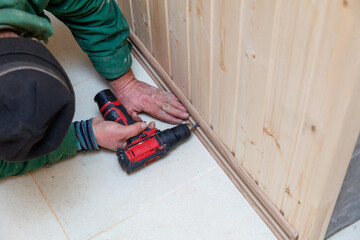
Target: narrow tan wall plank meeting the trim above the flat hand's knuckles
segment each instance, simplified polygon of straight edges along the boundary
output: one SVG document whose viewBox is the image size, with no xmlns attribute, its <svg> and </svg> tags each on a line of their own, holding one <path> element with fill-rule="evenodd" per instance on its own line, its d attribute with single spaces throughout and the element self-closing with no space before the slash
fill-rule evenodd
<svg viewBox="0 0 360 240">
<path fill-rule="evenodd" d="M 169 74 L 170 66 L 166 2 L 167 0 L 150 0 L 149 9 L 153 55 L 162 68 Z"/>
</svg>

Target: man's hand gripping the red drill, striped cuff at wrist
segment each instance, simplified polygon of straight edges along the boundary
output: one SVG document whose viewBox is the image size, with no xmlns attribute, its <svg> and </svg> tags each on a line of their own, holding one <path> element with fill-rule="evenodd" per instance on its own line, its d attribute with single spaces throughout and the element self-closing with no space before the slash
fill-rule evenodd
<svg viewBox="0 0 360 240">
<path fill-rule="evenodd" d="M 150 122 L 146 126 L 145 122 L 137 122 L 129 126 L 123 126 L 116 122 L 105 121 L 101 117 L 93 118 L 93 131 L 96 142 L 99 146 L 116 151 L 118 148 L 124 148 L 126 141 L 135 137 L 146 127 L 154 128 L 155 123 Z"/>
</svg>

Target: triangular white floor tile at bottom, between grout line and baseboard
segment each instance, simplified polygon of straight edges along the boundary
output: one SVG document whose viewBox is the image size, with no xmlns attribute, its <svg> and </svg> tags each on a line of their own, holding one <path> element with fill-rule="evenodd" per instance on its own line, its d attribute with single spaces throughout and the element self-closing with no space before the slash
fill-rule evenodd
<svg viewBox="0 0 360 240">
<path fill-rule="evenodd" d="M 221 169 L 93 240 L 276 239 Z"/>
</svg>

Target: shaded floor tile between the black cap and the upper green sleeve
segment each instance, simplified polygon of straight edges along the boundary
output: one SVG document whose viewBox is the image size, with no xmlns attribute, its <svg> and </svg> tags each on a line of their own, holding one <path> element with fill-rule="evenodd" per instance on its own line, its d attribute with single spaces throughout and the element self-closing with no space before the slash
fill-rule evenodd
<svg viewBox="0 0 360 240">
<path fill-rule="evenodd" d="M 89 57 L 76 43 L 70 30 L 51 13 L 46 14 L 50 17 L 55 30 L 46 47 L 65 69 L 72 84 L 76 85 L 85 79 L 99 76 Z"/>
</svg>

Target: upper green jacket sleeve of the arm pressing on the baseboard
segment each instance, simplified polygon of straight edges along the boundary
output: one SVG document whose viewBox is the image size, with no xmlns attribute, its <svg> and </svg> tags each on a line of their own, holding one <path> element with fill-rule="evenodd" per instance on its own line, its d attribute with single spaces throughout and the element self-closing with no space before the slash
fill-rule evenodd
<svg viewBox="0 0 360 240">
<path fill-rule="evenodd" d="M 114 0 L 53 0 L 46 10 L 69 27 L 104 78 L 116 79 L 130 69 L 129 26 Z"/>
</svg>

